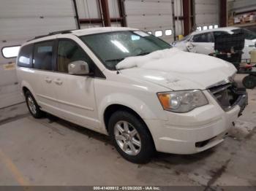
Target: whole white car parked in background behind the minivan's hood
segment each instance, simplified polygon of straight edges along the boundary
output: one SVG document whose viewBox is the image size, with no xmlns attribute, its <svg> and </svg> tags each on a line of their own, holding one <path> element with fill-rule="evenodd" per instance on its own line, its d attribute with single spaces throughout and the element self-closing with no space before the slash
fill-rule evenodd
<svg viewBox="0 0 256 191">
<path fill-rule="evenodd" d="M 180 41 L 173 42 L 174 47 L 178 47 L 181 50 L 187 52 L 195 52 L 204 55 L 208 55 L 214 52 L 214 39 L 220 35 L 244 33 L 245 42 L 242 55 L 242 61 L 249 61 L 251 50 L 255 49 L 256 33 L 244 28 L 226 27 L 226 28 L 214 28 L 205 31 L 195 31 Z"/>
</svg>

